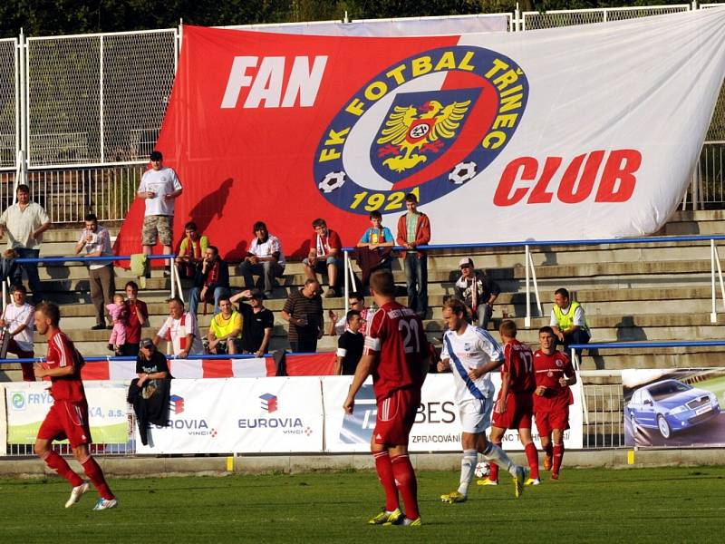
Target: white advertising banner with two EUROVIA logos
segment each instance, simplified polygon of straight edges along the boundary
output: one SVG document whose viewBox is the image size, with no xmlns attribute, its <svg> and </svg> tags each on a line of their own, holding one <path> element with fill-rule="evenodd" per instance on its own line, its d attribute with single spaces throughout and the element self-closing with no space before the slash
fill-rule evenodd
<svg viewBox="0 0 725 544">
<path fill-rule="evenodd" d="M 151 425 L 138 453 L 322 452 L 320 379 L 173 380 L 169 426 Z"/>
</svg>

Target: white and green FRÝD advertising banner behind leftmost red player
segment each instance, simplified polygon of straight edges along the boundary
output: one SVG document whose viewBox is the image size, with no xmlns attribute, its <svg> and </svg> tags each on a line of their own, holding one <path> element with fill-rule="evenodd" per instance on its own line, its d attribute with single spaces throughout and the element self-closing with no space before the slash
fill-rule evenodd
<svg viewBox="0 0 725 544">
<path fill-rule="evenodd" d="M 48 383 L 19 382 L 5 385 L 7 443 L 32 444 L 45 414 L 53 404 Z M 128 442 L 126 392 L 128 384 L 86 382 L 89 423 L 94 443 Z"/>
</svg>

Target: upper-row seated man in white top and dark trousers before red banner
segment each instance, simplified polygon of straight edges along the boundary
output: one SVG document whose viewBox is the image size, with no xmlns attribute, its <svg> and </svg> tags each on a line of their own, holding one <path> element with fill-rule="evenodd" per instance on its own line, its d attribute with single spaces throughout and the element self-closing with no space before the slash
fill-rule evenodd
<svg viewBox="0 0 725 544">
<path fill-rule="evenodd" d="M 255 223 L 254 234 L 247 257 L 239 265 L 239 274 L 244 277 L 247 289 L 255 287 L 253 275 L 264 277 L 265 296 L 271 298 L 275 277 L 282 277 L 285 273 L 285 253 L 279 238 L 269 234 L 262 221 Z"/>
</svg>

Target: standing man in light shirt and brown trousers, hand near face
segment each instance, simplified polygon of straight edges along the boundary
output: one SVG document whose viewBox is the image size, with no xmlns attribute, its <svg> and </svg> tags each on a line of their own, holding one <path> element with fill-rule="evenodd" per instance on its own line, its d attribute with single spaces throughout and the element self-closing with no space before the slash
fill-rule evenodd
<svg viewBox="0 0 725 544">
<path fill-rule="evenodd" d="M 113 257 L 111 249 L 111 235 L 108 230 L 98 224 L 95 214 L 89 213 L 85 216 L 85 228 L 81 231 L 81 238 L 75 244 L 75 254 L 78 255 L 85 249 L 85 257 L 89 260 L 88 281 L 91 284 L 91 300 L 96 309 L 96 324 L 92 330 L 106 328 L 106 306 L 113 304 L 113 295 L 116 292 L 116 284 L 113 274 L 113 261 L 94 261 L 91 257 Z M 110 317 L 109 317 L 110 320 Z"/>
</svg>

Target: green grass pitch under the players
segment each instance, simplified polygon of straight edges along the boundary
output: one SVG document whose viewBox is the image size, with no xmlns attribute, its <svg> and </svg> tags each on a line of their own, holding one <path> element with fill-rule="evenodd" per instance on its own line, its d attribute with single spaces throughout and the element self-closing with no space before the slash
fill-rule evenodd
<svg viewBox="0 0 725 544">
<path fill-rule="evenodd" d="M 377 527 L 372 471 L 111 479 L 120 507 L 92 511 L 95 491 L 69 510 L 60 478 L 0 481 L 0 542 L 722 542 L 725 467 L 595 469 L 513 497 L 474 484 L 443 504 L 458 473 L 418 474 L 420 528 Z"/>
</svg>

